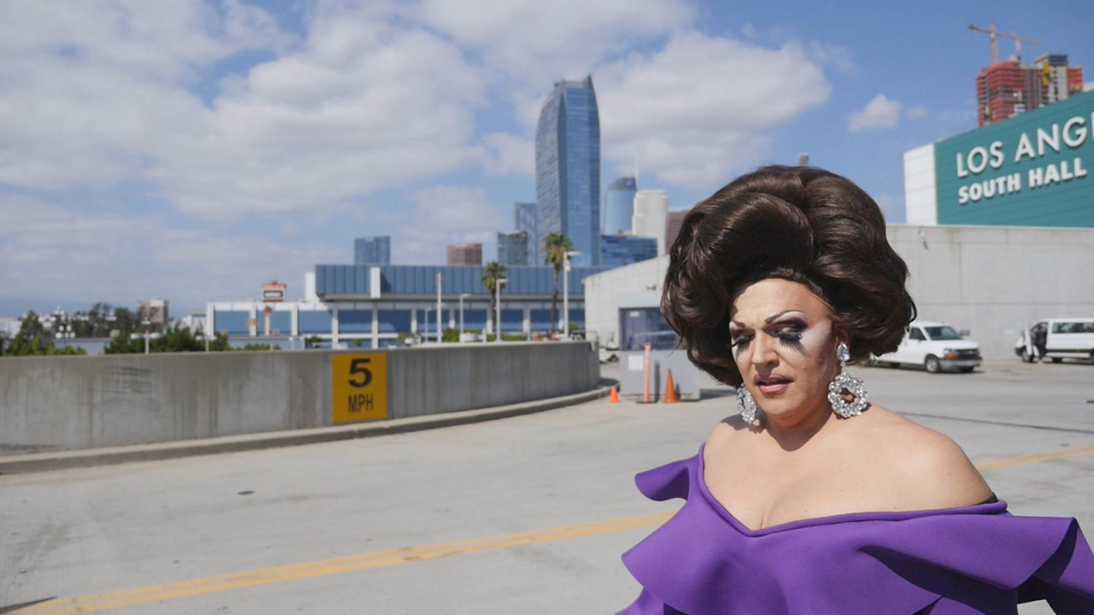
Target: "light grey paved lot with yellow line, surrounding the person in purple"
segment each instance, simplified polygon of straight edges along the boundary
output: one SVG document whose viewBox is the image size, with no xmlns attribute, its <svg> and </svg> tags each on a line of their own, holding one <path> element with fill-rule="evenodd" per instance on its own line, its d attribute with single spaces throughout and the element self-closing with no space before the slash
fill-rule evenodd
<svg viewBox="0 0 1094 615">
<path fill-rule="evenodd" d="M 852 371 L 962 444 L 1012 512 L 1094 534 L 1094 367 Z M 0 476 L 0 613 L 614 613 L 638 592 L 620 554 L 678 507 L 635 473 L 732 411 L 708 382 L 696 403 Z"/>
</svg>

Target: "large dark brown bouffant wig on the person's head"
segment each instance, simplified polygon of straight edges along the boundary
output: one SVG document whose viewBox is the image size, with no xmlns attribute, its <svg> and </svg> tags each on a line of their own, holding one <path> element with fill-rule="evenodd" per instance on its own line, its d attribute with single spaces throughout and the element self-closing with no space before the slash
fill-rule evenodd
<svg viewBox="0 0 1094 615">
<path fill-rule="evenodd" d="M 877 204 L 822 169 L 764 166 L 734 179 L 688 212 L 670 254 L 661 311 L 691 362 L 732 386 L 730 308 L 752 282 L 806 286 L 849 332 L 852 360 L 895 350 L 916 317 Z"/>
</svg>

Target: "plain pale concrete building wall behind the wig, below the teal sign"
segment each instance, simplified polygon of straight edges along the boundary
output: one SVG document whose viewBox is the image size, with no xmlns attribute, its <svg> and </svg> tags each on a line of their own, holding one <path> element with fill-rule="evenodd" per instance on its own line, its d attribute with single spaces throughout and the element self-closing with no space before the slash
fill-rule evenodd
<svg viewBox="0 0 1094 615">
<path fill-rule="evenodd" d="M 988 359 L 1014 357 L 1037 320 L 1094 317 L 1094 229 L 893 224 L 888 240 L 919 317 L 969 329 Z M 662 290 L 667 266 L 662 256 L 585 278 L 587 328 L 618 340 L 619 293 Z"/>
</svg>

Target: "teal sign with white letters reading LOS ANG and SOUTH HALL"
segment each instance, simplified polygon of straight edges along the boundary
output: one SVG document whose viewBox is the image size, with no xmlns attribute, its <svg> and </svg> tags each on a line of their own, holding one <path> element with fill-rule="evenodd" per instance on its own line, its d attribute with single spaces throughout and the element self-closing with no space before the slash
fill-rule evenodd
<svg viewBox="0 0 1094 615">
<path fill-rule="evenodd" d="M 939 224 L 1094 228 L 1094 92 L 934 144 Z"/>
</svg>

